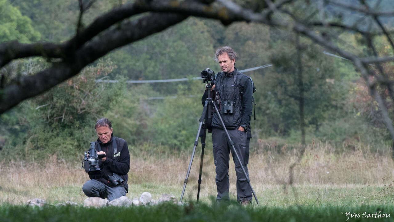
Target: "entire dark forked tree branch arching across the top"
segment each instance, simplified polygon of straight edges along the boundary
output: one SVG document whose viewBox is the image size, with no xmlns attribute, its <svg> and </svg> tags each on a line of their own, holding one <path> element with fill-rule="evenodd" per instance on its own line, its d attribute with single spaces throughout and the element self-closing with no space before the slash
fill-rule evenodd
<svg viewBox="0 0 394 222">
<path fill-rule="evenodd" d="M 293 16 L 293 21 L 286 22 L 283 19 L 268 18 L 269 13 L 254 13 L 237 4 L 226 0 L 217 0 L 219 6 L 211 3 L 213 0 L 138 0 L 133 4 L 123 5 L 98 17 L 87 28 L 81 30 L 80 36 L 74 36 L 64 44 L 33 43 L 20 44 L 17 41 L 0 44 L 0 68 L 16 58 L 29 56 L 44 56 L 49 58 L 62 58 L 61 62 L 54 63 L 51 68 L 41 71 L 33 76 L 28 76 L 13 85 L 5 86 L 0 91 L 0 113 L 15 106 L 20 101 L 45 92 L 61 81 L 76 75 L 82 68 L 106 53 L 139 40 L 150 34 L 160 32 L 165 28 L 179 23 L 190 15 L 204 18 L 212 18 L 223 24 L 235 21 L 257 22 L 273 27 L 281 27 L 307 36 L 309 39 L 336 52 L 338 55 L 361 64 L 380 63 L 394 60 L 394 57 L 386 58 L 358 58 L 334 45 L 307 24 L 304 24 Z M 290 0 L 282 0 L 275 7 L 281 6 Z M 333 2 L 329 0 L 329 2 Z M 279 11 L 273 13 L 281 13 Z M 141 19 L 122 23 L 119 27 L 108 29 L 115 23 L 132 15 L 152 11 L 151 15 Z M 159 12 L 159 13 L 157 13 Z M 175 13 L 175 14 L 174 14 Z M 394 15 L 394 13 L 368 13 L 377 16 Z M 338 26 L 340 26 L 338 24 Z M 342 26 L 342 28 L 349 28 Z M 106 30 L 106 31 L 104 31 Z M 355 29 L 353 29 L 355 30 Z M 358 30 L 362 33 L 362 31 Z M 102 34 L 100 34 L 102 33 Z M 98 36 L 100 34 L 100 36 Z M 93 38 L 95 37 L 95 38 Z M 74 50 L 70 50 L 74 49 Z M 360 68 L 359 68 L 360 69 Z M 41 83 L 45 82 L 46 84 Z M 48 84 L 47 84 L 48 83 Z M 12 101 L 9 103 L 9 101 Z"/>
</svg>

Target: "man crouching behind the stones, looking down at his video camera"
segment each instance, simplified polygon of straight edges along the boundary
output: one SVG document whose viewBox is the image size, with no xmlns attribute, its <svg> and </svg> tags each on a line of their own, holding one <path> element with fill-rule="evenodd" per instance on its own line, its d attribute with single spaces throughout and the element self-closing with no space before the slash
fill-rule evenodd
<svg viewBox="0 0 394 222">
<path fill-rule="evenodd" d="M 98 160 L 101 171 L 100 179 L 85 182 L 82 190 L 88 197 L 108 198 L 109 201 L 126 196 L 128 192 L 128 176 L 130 169 L 130 153 L 124 139 L 114 137 L 111 121 L 99 119 L 95 125 L 97 138 L 95 149 L 97 155 L 105 154 L 106 157 Z M 110 182 L 109 176 L 117 174 L 123 179 L 119 184 Z"/>
</svg>

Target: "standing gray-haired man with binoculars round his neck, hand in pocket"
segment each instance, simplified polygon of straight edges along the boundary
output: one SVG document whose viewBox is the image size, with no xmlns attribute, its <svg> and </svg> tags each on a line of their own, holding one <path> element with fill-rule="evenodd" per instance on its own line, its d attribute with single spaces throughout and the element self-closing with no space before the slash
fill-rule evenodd
<svg viewBox="0 0 394 222">
<path fill-rule="evenodd" d="M 247 164 L 249 161 L 249 138 L 251 138 L 252 86 L 247 75 L 240 73 L 234 67 L 236 58 L 236 53 L 228 46 L 216 50 L 215 60 L 219 62 L 222 71 L 217 73 L 216 85 L 212 87 L 211 94 L 249 177 Z M 205 91 L 202 98 L 203 105 L 206 98 L 207 92 Z M 227 135 L 215 112 L 212 117 L 212 143 L 216 166 L 216 200 L 229 200 L 231 149 L 227 141 Z M 232 154 L 232 156 L 237 175 L 237 201 L 242 205 L 251 204 L 251 189 L 235 154 Z"/>
</svg>

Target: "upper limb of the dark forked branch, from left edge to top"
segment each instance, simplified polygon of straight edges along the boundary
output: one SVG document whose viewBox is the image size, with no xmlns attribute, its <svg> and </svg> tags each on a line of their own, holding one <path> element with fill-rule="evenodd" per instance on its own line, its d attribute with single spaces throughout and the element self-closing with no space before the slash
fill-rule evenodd
<svg viewBox="0 0 394 222">
<path fill-rule="evenodd" d="M 175 4 L 175 3 L 177 4 Z M 213 0 L 186 0 L 182 2 L 171 0 L 139 0 L 133 4 L 126 4 L 119 8 L 115 8 L 104 15 L 101 15 L 87 28 L 81 30 L 79 35 L 74 36 L 69 41 L 56 44 L 56 43 L 33 43 L 22 44 L 18 41 L 11 41 L 8 43 L 0 44 L 0 68 L 8 64 L 11 60 L 17 58 L 26 58 L 30 56 L 43 56 L 49 58 L 63 58 L 68 59 L 76 50 L 82 45 L 92 40 L 100 32 L 106 30 L 113 24 L 116 24 L 124 19 L 144 13 L 147 11 L 154 12 L 169 12 L 178 13 L 182 15 L 206 15 L 208 18 L 220 18 L 223 21 L 240 21 L 239 19 L 232 19 L 234 15 L 221 14 L 219 9 L 212 10 L 213 8 L 201 2 L 214 2 Z"/>
</svg>

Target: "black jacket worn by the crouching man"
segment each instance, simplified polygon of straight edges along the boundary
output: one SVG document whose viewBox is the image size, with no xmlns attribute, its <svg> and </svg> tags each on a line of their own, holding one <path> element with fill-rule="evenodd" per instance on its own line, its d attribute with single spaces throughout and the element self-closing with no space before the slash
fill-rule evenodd
<svg viewBox="0 0 394 222">
<path fill-rule="evenodd" d="M 113 153 L 113 141 L 116 141 L 117 151 L 120 152 L 120 155 L 116 155 L 114 157 Z M 101 179 L 100 182 L 104 184 L 114 187 L 113 184 L 108 181 L 107 175 L 112 175 L 112 173 L 118 174 L 122 179 L 123 182 L 118 184 L 117 186 L 123 186 L 126 188 L 126 192 L 128 192 L 128 171 L 130 169 L 130 153 L 128 152 L 128 146 L 124 139 L 119 137 L 114 137 L 111 134 L 111 140 L 108 143 L 102 143 L 100 139 L 97 138 L 96 147 L 97 151 L 104 151 L 107 158 L 104 162 L 99 159 L 99 167 L 101 171 Z"/>
</svg>

